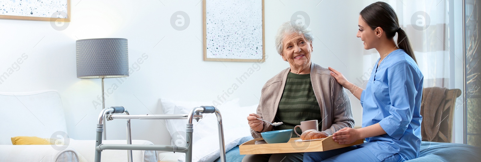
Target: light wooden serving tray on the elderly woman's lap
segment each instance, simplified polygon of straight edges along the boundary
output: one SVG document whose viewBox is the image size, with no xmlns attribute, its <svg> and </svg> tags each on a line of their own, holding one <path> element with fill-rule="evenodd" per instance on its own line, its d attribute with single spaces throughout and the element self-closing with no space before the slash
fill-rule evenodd
<svg viewBox="0 0 481 162">
<path fill-rule="evenodd" d="M 295 142 L 294 140 L 301 138 L 291 138 L 287 143 L 271 143 L 271 144 L 254 144 L 255 141 L 263 140 L 262 138 L 253 139 L 242 143 L 239 146 L 241 155 L 246 154 L 266 154 L 266 153 L 293 153 L 293 152 L 317 152 L 334 150 L 348 146 L 363 144 L 364 139 L 356 140 L 351 144 L 340 145 L 334 142 L 332 135 L 325 139 L 316 141 Z"/>
</svg>

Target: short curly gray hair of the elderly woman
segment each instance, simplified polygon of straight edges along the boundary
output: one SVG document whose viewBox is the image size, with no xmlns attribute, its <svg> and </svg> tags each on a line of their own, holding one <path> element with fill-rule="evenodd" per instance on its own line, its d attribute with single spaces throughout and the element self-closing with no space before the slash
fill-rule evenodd
<svg viewBox="0 0 481 162">
<path fill-rule="evenodd" d="M 292 33 L 297 33 L 299 35 L 304 34 L 304 37 L 307 39 L 307 41 L 309 41 L 309 43 L 314 40 L 314 36 L 311 34 L 311 29 L 307 28 L 305 23 L 297 23 L 296 20 L 282 23 L 276 34 L 276 49 L 279 55 L 282 55 L 282 40 L 286 34 Z"/>
</svg>

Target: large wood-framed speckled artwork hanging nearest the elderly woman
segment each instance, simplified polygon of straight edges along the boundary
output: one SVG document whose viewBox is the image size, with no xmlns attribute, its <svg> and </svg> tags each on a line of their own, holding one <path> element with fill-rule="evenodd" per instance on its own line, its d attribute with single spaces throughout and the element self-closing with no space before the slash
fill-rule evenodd
<svg viewBox="0 0 481 162">
<path fill-rule="evenodd" d="M 203 0 L 204 61 L 264 62 L 264 0 Z"/>
</svg>

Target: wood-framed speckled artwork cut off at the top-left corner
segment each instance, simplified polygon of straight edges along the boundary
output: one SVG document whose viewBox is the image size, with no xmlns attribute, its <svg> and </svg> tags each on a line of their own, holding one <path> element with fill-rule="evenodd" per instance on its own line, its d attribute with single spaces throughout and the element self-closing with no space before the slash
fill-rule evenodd
<svg viewBox="0 0 481 162">
<path fill-rule="evenodd" d="M 70 22 L 70 0 L 1 0 L 0 19 Z"/>
</svg>

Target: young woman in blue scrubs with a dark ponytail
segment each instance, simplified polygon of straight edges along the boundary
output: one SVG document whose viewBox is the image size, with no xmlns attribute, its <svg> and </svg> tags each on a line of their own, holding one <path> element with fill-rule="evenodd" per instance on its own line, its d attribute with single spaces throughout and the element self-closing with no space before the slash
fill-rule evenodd
<svg viewBox="0 0 481 162">
<path fill-rule="evenodd" d="M 333 134 L 339 144 L 366 139 L 357 146 L 323 152 L 305 152 L 304 162 L 402 162 L 415 159 L 421 143 L 420 115 L 423 75 L 397 15 L 385 2 L 364 8 L 357 37 L 365 49 L 376 48 L 366 90 L 346 80 L 335 69 L 331 75 L 361 101 L 362 128 L 344 127 Z M 394 35 L 397 33 L 397 46 Z"/>
</svg>

